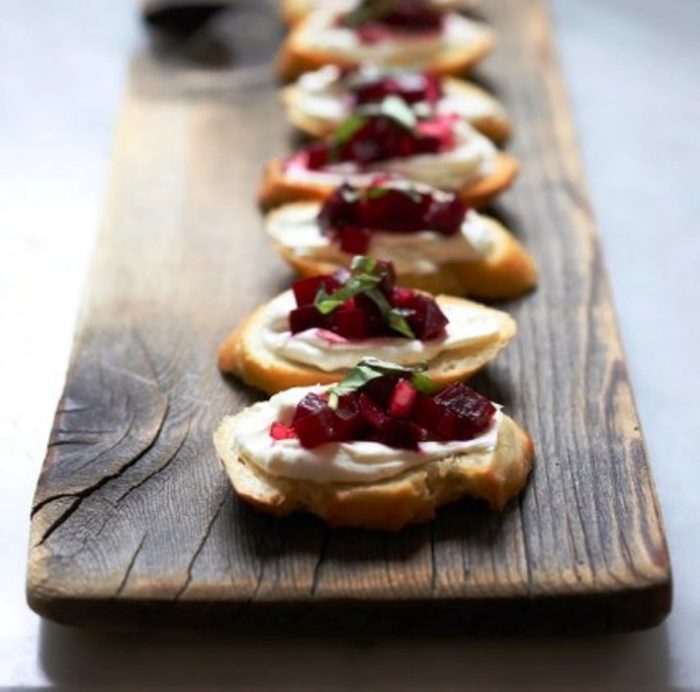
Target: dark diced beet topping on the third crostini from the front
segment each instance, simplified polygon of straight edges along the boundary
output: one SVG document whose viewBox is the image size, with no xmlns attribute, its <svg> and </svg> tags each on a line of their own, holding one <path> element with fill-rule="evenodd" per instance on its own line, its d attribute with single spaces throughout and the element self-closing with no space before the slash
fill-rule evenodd
<svg viewBox="0 0 700 692">
<path fill-rule="evenodd" d="M 452 192 L 378 177 L 364 187 L 348 183 L 337 187 L 321 207 L 318 221 L 341 250 L 353 254 L 368 251 L 373 232 L 455 235 L 467 210 Z"/>
</svg>

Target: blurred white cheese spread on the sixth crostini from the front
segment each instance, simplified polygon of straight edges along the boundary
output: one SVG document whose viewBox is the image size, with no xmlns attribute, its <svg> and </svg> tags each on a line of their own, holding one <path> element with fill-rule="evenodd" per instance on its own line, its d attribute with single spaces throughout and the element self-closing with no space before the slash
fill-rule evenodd
<svg viewBox="0 0 700 692">
<path fill-rule="evenodd" d="M 442 31 L 426 35 L 387 36 L 376 43 L 362 43 L 357 33 L 335 24 L 337 9 L 320 9 L 309 15 L 297 40 L 307 49 L 322 51 L 339 59 L 376 65 L 425 67 L 436 53 L 461 49 L 480 40 L 490 30 L 459 14 L 445 16 Z"/>
</svg>

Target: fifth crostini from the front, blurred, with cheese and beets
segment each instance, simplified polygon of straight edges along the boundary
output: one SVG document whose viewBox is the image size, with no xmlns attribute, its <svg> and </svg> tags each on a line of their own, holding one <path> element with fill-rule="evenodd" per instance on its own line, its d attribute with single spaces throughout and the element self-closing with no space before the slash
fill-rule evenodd
<svg viewBox="0 0 700 692">
<path fill-rule="evenodd" d="M 419 118 L 456 115 L 498 144 L 512 133 L 503 106 L 486 91 L 460 79 L 421 70 L 373 65 L 341 70 L 326 65 L 304 73 L 283 89 L 282 101 L 296 128 L 312 137 L 325 137 L 357 108 L 392 95 L 402 98 Z"/>
</svg>

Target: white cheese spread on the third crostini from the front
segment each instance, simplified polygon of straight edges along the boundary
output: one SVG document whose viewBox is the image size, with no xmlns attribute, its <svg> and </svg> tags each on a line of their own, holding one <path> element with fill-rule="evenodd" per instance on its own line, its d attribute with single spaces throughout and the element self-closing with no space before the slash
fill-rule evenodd
<svg viewBox="0 0 700 692">
<path fill-rule="evenodd" d="M 347 264 L 350 255 L 321 233 L 317 202 L 288 204 L 268 214 L 265 227 L 273 240 L 299 257 Z M 444 236 L 435 231 L 372 233 L 367 254 L 394 263 L 399 273 L 431 274 L 449 262 L 469 262 L 492 252 L 492 227 L 469 210 L 459 233 Z"/>
</svg>

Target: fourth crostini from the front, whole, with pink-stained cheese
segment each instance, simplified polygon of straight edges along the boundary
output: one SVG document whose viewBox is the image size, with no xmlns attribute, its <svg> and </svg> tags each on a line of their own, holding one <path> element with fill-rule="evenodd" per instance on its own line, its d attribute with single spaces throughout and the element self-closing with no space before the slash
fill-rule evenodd
<svg viewBox="0 0 700 692">
<path fill-rule="evenodd" d="M 483 207 L 506 190 L 516 160 L 454 115 L 426 120 L 398 96 L 357 110 L 323 140 L 270 162 L 258 193 L 262 209 L 326 199 L 341 182 L 361 184 L 378 171 L 454 190 Z"/>
</svg>

